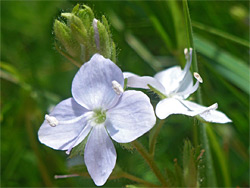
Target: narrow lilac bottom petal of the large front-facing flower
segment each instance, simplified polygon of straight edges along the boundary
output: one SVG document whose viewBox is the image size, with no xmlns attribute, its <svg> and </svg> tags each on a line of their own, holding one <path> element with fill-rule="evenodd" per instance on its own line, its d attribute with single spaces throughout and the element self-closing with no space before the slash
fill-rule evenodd
<svg viewBox="0 0 250 188">
<path fill-rule="evenodd" d="M 93 127 L 85 146 L 84 161 L 95 184 L 103 185 L 116 163 L 115 147 L 104 125 Z"/>
</svg>

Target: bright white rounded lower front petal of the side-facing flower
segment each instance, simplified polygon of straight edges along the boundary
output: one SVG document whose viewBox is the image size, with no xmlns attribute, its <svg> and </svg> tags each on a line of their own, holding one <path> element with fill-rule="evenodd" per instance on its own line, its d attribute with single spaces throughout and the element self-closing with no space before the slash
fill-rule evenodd
<svg viewBox="0 0 250 188">
<path fill-rule="evenodd" d="M 185 102 L 185 100 L 179 100 L 176 98 L 163 99 L 156 105 L 155 113 L 158 118 L 165 119 L 171 114 L 196 116 L 201 112 L 204 112 L 204 108 L 196 108 L 191 110 L 185 106 L 183 102 Z"/>
</svg>

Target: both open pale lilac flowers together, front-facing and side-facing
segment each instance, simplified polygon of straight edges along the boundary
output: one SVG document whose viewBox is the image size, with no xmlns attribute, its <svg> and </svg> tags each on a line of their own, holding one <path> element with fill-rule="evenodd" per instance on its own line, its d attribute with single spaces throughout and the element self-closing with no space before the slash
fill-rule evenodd
<svg viewBox="0 0 250 188">
<path fill-rule="evenodd" d="M 185 50 L 187 64 L 182 70 L 175 66 L 154 77 L 122 73 L 111 60 L 95 54 L 75 75 L 72 98 L 55 106 L 38 131 L 41 143 L 70 154 L 85 138 L 84 161 L 95 184 L 103 185 L 116 163 L 116 150 L 110 138 L 129 143 L 148 132 L 155 124 L 154 109 L 147 95 L 126 87 L 151 89 L 162 100 L 156 115 L 165 119 L 171 114 L 199 116 L 208 122 L 231 120 L 217 111 L 217 103 L 204 107 L 188 101 L 202 82 L 198 73 L 193 84 L 189 71 L 192 49 Z M 124 79 L 127 84 L 124 86 Z"/>
</svg>

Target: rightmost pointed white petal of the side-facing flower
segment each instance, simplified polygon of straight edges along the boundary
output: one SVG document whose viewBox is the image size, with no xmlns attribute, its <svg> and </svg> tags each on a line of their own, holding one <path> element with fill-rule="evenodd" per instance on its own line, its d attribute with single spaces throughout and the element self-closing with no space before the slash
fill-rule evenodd
<svg viewBox="0 0 250 188">
<path fill-rule="evenodd" d="M 184 101 L 184 104 L 192 109 L 203 109 L 203 113 L 200 113 L 199 116 L 204 119 L 205 121 L 212 122 L 212 123 L 230 123 L 232 122 L 231 119 L 229 119 L 224 113 L 218 111 L 218 110 L 206 110 L 209 107 L 204 107 L 199 104 L 190 102 L 190 101 Z"/>
</svg>

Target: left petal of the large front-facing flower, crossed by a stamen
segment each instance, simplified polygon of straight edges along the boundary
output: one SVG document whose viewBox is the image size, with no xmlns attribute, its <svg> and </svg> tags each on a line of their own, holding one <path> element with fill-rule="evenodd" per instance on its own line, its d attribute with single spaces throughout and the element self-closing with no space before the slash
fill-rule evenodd
<svg viewBox="0 0 250 188">
<path fill-rule="evenodd" d="M 55 117 L 59 123 L 52 127 L 45 120 L 38 131 L 40 142 L 58 150 L 67 150 L 72 144 L 73 146 L 79 144 L 90 130 L 85 127 L 86 117 L 84 117 L 84 114 L 86 113 L 88 113 L 88 110 L 77 104 L 73 98 L 60 102 L 49 114 Z M 76 121 L 73 121 L 73 119 Z"/>
</svg>

